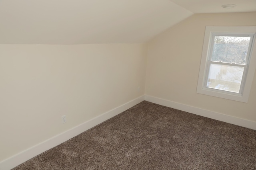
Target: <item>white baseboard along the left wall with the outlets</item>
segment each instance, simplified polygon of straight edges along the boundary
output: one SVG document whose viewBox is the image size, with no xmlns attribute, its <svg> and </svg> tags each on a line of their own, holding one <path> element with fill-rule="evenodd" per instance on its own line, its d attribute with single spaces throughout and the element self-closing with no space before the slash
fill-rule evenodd
<svg viewBox="0 0 256 170">
<path fill-rule="evenodd" d="M 27 160 L 33 158 L 34 156 L 41 154 L 42 152 L 45 152 L 46 150 L 49 150 L 53 147 L 56 147 L 57 145 L 60 145 L 61 143 L 75 137 L 76 135 L 79 135 L 80 133 L 110 119 L 111 117 L 114 117 L 119 113 L 122 113 L 123 111 L 129 109 L 130 107 L 133 107 L 136 104 L 139 104 L 143 100 L 144 100 L 144 95 L 130 102 L 127 102 L 126 104 L 116 107 L 110 111 L 107 111 L 106 113 L 103 113 L 102 115 L 99 115 L 76 127 L 73 127 L 68 131 L 60 133 L 59 135 L 56 135 L 42 143 L 35 145 L 34 147 L 26 149 L 23 152 L 20 152 L 6 160 L 3 160 L 2 162 L 0 162 L 0 170 L 10 170 L 18 166 L 19 164 L 22 164 L 23 162 L 26 162 Z"/>
</svg>

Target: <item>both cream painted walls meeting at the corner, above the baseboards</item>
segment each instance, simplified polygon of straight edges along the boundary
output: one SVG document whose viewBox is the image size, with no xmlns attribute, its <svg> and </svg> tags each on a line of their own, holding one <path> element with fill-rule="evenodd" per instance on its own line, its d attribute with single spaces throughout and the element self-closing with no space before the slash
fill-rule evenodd
<svg viewBox="0 0 256 170">
<path fill-rule="evenodd" d="M 247 104 L 196 93 L 205 26 L 255 18 L 196 14 L 148 46 L 0 45 L 0 162 L 143 95 L 145 77 L 146 95 L 256 121 L 255 76 Z"/>
</svg>

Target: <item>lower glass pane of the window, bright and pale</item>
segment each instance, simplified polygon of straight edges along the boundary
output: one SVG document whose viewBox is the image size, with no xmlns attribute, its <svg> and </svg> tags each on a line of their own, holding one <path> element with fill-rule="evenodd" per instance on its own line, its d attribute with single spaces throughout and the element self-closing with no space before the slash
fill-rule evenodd
<svg viewBox="0 0 256 170">
<path fill-rule="evenodd" d="M 239 93 L 244 67 L 211 64 L 208 75 L 208 88 Z"/>
</svg>

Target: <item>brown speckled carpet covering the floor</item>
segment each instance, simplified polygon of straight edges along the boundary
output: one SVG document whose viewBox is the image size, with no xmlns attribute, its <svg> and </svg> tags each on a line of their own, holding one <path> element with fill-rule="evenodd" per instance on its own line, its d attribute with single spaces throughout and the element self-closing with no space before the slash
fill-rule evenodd
<svg viewBox="0 0 256 170">
<path fill-rule="evenodd" d="M 252 170 L 256 131 L 150 102 L 13 170 Z"/>
</svg>

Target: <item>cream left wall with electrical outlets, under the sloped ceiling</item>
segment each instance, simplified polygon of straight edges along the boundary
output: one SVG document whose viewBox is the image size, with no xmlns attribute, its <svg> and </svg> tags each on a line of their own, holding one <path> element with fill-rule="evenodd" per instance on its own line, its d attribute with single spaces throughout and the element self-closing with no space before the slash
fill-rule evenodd
<svg viewBox="0 0 256 170">
<path fill-rule="evenodd" d="M 146 55 L 147 44 L 0 45 L 0 162 L 144 95 Z"/>
</svg>

